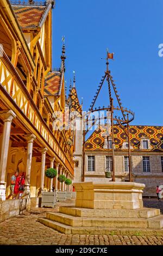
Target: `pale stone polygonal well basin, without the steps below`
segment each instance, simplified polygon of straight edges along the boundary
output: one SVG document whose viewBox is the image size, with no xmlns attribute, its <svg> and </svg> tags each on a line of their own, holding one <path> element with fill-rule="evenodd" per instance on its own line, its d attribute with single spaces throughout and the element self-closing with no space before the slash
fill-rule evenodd
<svg viewBox="0 0 163 256">
<path fill-rule="evenodd" d="M 135 182 L 78 182 L 76 207 L 91 209 L 141 209 L 144 184 Z"/>
</svg>

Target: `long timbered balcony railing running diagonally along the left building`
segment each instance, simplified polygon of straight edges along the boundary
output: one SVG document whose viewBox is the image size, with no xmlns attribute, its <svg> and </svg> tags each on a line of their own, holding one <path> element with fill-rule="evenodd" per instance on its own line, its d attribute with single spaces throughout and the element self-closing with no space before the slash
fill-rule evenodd
<svg viewBox="0 0 163 256">
<path fill-rule="evenodd" d="M 21 77 L 18 75 L 5 52 L 3 53 L 3 57 L 0 58 L 0 83 L 10 96 L 12 92 L 12 99 L 16 102 L 16 105 L 35 126 L 49 147 L 57 153 L 70 172 L 73 172 L 72 160 L 67 158 L 59 142 L 54 137 L 53 132 L 43 120 Z"/>
</svg>

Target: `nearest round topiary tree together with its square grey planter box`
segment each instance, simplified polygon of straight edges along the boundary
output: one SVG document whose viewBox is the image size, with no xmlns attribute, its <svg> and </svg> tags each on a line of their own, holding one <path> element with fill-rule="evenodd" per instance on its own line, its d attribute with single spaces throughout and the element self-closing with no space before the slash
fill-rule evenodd
<svg viewBox="0 0 163 256">
<path fill-rule="evenodd" d="M 53 179 L 57 176 L 57 170 L 54 168 L 48 168 L 45 171 L 45 175 L 49 179 Z M 54 207 L 57 202 L 56 192 L 42 192 L 41 207 Z"/>
</svg>

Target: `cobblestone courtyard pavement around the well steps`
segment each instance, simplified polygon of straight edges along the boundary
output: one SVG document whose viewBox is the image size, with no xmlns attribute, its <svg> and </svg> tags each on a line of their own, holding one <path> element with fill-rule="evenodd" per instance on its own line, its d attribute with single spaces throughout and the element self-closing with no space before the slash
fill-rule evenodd
<svg viewBox="0 0 163 256">
<path fill-rule="evenodd" d="M 34 209 L 1 222 L 0 245 L 163 245 L 162 236 L 65 235 L 36 221 L 47 211 L 58 211 L 60 205 L 73 204 L 58 203 L 56 209 Z M 163 209 L 163 200 L 158 204 L 156 199 L 146 199 L 144 205 Z"/>
</svg>

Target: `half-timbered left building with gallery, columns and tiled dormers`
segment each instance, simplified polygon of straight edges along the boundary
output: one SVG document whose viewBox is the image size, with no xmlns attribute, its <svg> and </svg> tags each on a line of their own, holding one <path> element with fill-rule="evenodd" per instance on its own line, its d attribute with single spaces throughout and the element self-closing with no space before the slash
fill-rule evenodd
<svg viewBox="0 0 163 256">
<path fill-rule="evenodd" d="M 11 2 L 11 3 L 10 3 Z M 54 129 L 55 111 L 65 113 L 65 48 L 52 70 L 52 7 L 48 0 L 0 2 L 0 198 L 9 194 L 11 175 L 26 172 L 26 192 L 66 190 L 45 177 L 45 169 L 73 180 L 70 131 Z M 37 2 L 37 1 L 35 1 Z M 72 189 L 72 186 L 69 186 Z"/>
</svg>

